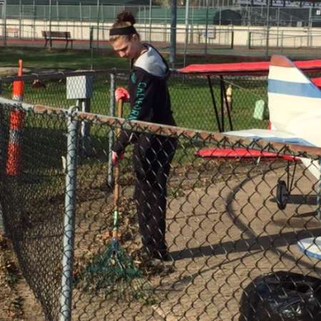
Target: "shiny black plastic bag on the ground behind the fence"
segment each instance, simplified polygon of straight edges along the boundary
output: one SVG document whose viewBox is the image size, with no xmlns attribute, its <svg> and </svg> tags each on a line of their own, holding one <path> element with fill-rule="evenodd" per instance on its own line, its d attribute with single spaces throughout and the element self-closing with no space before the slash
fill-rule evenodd
<svg viewBox="0 0 321 321">
<path fill-rule="evenodd" d="M 293 272 L 260 275 L 245 287 L 239 321 L 321 321 L 321 280 Z"/>
</svg>

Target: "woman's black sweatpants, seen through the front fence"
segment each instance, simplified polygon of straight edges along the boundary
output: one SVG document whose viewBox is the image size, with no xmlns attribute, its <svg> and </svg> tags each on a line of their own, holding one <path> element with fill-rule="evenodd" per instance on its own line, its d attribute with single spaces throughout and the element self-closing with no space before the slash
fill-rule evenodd
<svg viewBox="0 0 321 321">
<path fill-rule="evenodd" d="M 143 246 L 151 258 L 164 258 L 167 180 L 177 141 L 164 136 L 141 135 L 135 144 L 134 198 Z"/>
</svg>

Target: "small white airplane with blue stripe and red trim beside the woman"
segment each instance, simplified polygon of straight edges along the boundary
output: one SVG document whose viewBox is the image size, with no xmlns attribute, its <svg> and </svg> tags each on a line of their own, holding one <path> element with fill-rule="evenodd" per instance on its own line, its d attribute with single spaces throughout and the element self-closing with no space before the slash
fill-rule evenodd
<svg viewBox="0 0 321 321">
<path fill-rule="evenodd" d="M 321 126 L 321 91 L 285 56 L 272 56 L 270 61 L 268 108 L 270 129 L 253 128 L 228 131 L 224 134 L 253 140 L 263 138 L 277 143 L 321 147 L 321 135 L 318 132 Z M 218 148 L 213 150 L 213 153 L 215 155 L 208 156 L 243 157 L 248 151 L 240 148 L 237 148 L 237 151 Z M 259 156 L 260 153 L 262 154 L 260 151 L 250 150 L 250 156 Z M 267 157 L 273 155 L 280 157 L 275 153 L 265 154 Z M 200 156 L 207 157 L 201 153 Z M 281 158 L 291 161 L 288 157 L 287 155 L 281 156 Z M 292 158 L 292 161 L 297 161 L 297 158 Z M 310 158 L 300 158 L 300 161 L 317 180 L 320 180 L 320 163 L 318 161 L 312 161 Z M 290 179 L 287 181 L 290 182 Z M 285 208 L 291 188 L 284 180 L 278 181 L 277 206 L 280 209 Z"/>
</svg>

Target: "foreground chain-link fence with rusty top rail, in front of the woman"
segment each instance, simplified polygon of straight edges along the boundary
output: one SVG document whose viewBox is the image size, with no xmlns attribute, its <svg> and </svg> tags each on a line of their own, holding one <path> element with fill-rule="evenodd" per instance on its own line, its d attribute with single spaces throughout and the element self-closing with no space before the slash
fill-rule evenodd
<svg viewBox="0 0 321 321">
<path fill-rule="evenodd" d="M 114 89 L 113 81 L 108 83 L 113 77 L 106 75 L 100 78 L 106 96 L 97 98 L 97 107 L 91 103 L 91 108 L 97 108 L 95 113 L 70 107 L 77 103 L 64 100 L 66 87 L 59 91 L 58 80 L 52 82 L 51 95 L 45 95 L 44 88 L 36 91 L 34 81 L 24 76 L 25 100 L 34 99 L 36 105 L 1 98 L 0 203 L 4 228 L 46 320 L 70 320 L 71 316 L 73 320 L 250 320 L 240 310 L 240 302 L 256 277 L 280 270 L 321 277 L 320 261 L 297 248 L 302 238 L 316 238 L 321 231 L 319 180 L 310 174 L 311 168 L 318 168 L 320 148 L 98 115 L 98 106 L 109 105 L 108 92 Z M 95 78 L 94 73 L 91 76 Z M 202 113 L 200 105 L 194 102 L 188 108 L 186 96 L 203 96 L 204 79 L 193 78 L 195 91 L 187 86 L 189 77 L 180 75 L 179 79 L 180 111 L 188 116 L 180 120 L 177 110 L 174 116 L 179 125 L 180 121 L 196 122 Z M 231 82 L 238 85 L 245 99 L 251 96 L 254 83 L 241 88 L 239 79 L 231 78 Z M 76 89 L 80 87 L 77 81 Z M 46 88 L 50 83 L 44 81 Z M 9 96 L 9 87 L 4 81 L 2 84 L 3 93 Z M 29 91 L 33 90 L 31 99 Z M 55 106 L 44 106 L 45 97 L 54 92 L 61 92 L 61 98 Z M 96 94 L 93 91 L 93 96 Z M 59 103 L 65 108 L 58 108 Z M 205 118 L 210 116 L 205 113 Z M 90 129 L 83 136 L 81 128 L 85 125 Z M 128 147 L 116 180 L 120 186 L 119 246 L 148 284 L 148 297 L 135 292 L 128 297 L 117 282 L 112 289 L 105 286 L 105 265 L 97 264 L 108 256 L 106 249 L 113 242 L 116 196 L 109 179 L 113 168 L 108 156 L 117 128 L 148 142 L 156 141 L 156 145 L 170 140 L 177 143 L 165 197 L 169 263 L 153 265 L 144 254 L 137 195 L 133 195 L 137 184 L 133 173 L 135 144 Z M 201 157 L 205 148 L 215 151 L 222 147 L 248 149 L 250 157 Z M 258 158 L 253 150 L 280 158 Z M 151 148 L 146 156 L 148 166 L 155 163 L 158 152 Z M 307 159 L 307 167 L 300 158 Z M 280 181 L 285 183 L 286 193 L 280 190 Z M 149 203 L 151 208 L 153 205 Z M 96 269 L 89 268 L 93 266 Z M 270 311 L 269 306 L 265 310 Z M 253 305 L 253 317 L 260 312 L 256 307 Z M 320 310 L 320 305 L 317 308 Z"/>
</svg>

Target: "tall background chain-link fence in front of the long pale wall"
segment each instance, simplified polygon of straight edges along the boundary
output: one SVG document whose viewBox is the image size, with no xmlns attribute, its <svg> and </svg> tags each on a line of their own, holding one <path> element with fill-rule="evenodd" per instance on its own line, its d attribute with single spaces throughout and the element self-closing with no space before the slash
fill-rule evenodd
<svg viewBox="0 0 321 321">
<path fill-rule="evenodd" d="M 277 6 L 263 3 L 260 6 L 250 6 L 250 3 L 233 6 L 232 2 L 208 1 L 208 6 L 202 3 L 190 8 L 178 6 L 175 26 L 177 53 L 186 59 L 188 54 L 217 54 L 218 49 L 223 54 L 225 51 L 233 53 L 238 47 L 236 50 L 253 49 L 250 56 L 262 56 L 260 47 L 263 47 L 265 56 L 283 51 L 288 56 L 297 56 L 300 54 L 298 48 L 320 48 L 317 27 L 321 25 L 321 18 L 317 7 L 283 8 L 280 3 Z M 169 51 L 173 46 L 170 44 L 173 31 L 170 6 L 158 6 L 153 1 L 149 6 L 126 3 L 113 6 L 104 1 L 81 1 L 73 5 L 58 0 L 4 1 L 0 4 L 0 44 L 41 47 L 45 44 L 44 33 L 52 31 L 67 33 L 68 39 L 73 39 L 74 48 L 110 48 L 108 30 L 123 9 L 136 16 L 136 27 L 143 41 L 158 44 L 164 52 Z M 63 34 L 58 36 L 59 40 L 63 38 Z M 64 41 L 54 40 L 54 47 L 63 48 L 64 45 Z M 246 56 L 245 52 L 239 51 L 238 54 Z M 317 50 L 306 50 L 300 54 L 318 55 Z"/>
</svg>

